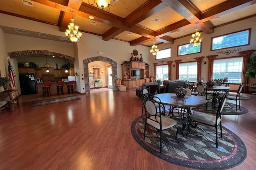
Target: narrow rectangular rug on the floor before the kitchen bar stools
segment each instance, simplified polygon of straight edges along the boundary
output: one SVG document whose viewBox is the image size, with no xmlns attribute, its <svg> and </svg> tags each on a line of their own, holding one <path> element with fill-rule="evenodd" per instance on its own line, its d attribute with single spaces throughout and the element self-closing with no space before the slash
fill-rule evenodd
<svg viewBox="0 0 256 170">
<path fill-rule="evenodd" d="M 79 99 L 80 98 L 77 96 L 67 96 L 67 97 L 58 97 L 53 99 L 36 100 L 36 101 L 32 101 L 29 107 L 49 105 L 49 104 L 60 103 L 65 101 L 73 101 L 73 100 L 79 100 Z"/>
</svg>

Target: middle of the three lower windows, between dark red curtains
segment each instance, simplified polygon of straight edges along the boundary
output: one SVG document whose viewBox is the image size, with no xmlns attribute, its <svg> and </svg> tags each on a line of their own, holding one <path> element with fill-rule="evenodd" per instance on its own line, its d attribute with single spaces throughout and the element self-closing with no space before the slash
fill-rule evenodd
<svg viewBox="0 0 256 170">
<path fill-rule="evenodd" d="M 196 82 L 197 62 L 180 63 L 179 79 Z"/>
</svg>

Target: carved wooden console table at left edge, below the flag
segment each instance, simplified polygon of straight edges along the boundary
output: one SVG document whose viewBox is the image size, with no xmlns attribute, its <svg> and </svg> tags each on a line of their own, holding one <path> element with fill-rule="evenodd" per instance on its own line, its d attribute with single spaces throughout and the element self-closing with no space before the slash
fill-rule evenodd
<svg viewBox="0 0 256 170">
<path fill-rule="evenodd" d="M 18 90 L 6 90 L 0 93 L 0 101 L 7 101 L 7 104 L 3 107 L 9 107 L 10 111 L 14 111 L 15 104 L 19 104 L 19 92 Z M 0 109 L 1 111 L 1 109 Z"/>
</svg>

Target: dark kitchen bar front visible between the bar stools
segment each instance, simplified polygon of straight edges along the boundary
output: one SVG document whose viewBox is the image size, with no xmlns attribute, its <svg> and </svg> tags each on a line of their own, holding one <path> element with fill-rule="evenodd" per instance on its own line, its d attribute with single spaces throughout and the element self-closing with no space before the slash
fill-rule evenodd
<svg viewBox="0 0 256 170">
<path fill-rule="evenodd" d="M 57 95 L 57 85 L 58 85 L 58 82 L 51 82 L 50 90 L 51 90 L 52 96 Z M 37 83 L 38 95 L 43 96 L 43 88 L 42 88 L 43 86 L 44 86 L 44 83 Z M 64 94 L 68 94 L 68 81 L 64 81 L 63 91 L 64 91 Z M 76 81 L 74 82 L 74 92 L 76 92 Z"/>
</svg>

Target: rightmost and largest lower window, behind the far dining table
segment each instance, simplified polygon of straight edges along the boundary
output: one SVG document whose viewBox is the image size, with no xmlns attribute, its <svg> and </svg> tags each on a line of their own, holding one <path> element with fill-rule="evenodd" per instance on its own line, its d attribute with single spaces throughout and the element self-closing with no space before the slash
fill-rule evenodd
<svg viewBox="0 0 256 170">
<path fill-rule="evenodd" d="M 214 60 L 213 79 L 228 77 L 230 83 L 241 83 L 242 63 L 242 57 Z"/>
</svg>

